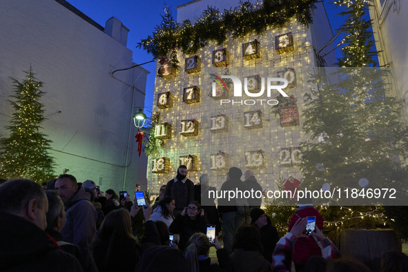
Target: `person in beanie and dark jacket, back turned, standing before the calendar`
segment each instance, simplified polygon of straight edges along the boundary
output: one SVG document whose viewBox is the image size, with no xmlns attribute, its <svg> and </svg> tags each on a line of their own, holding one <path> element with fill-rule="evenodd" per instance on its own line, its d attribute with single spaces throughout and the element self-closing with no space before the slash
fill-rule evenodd
<svg viewBox="0 0 408 272">
<path fill-rule="evenodd" d="M 221 227 L 224 233 L 224 249 L 231 254 L 235 232 L 244 224 L 245 213 L 248 210 L 248 202 L 237 195 L 233 197 L 232 192 L 240 191 L 244 195 L 244 191 L 248 191 L 248 187 L 241 180 L 242 171 L 240 168 L 229 168 L 227 177 L 229 179 L 221 186 L 222 195 L 220 196 L 222 197 L 218 198 L 218 211 L 222 215 Z"/>
</svg>

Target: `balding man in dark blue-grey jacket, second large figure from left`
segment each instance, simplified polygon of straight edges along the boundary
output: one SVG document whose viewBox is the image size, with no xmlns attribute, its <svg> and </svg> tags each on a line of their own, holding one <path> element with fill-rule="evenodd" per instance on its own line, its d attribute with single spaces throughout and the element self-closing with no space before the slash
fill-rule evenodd
<svg viewBox="0 0 408 272">
<path fill-rule="evenodd" d="M 90 195 L 77 185 L 73 175 L 60 175 L 55 189 L 65 204 L 66 224 L 61 229 L 65 242 L 92 249 L 95 240 L 97 211 L 90 202 Z"/>
</svg>

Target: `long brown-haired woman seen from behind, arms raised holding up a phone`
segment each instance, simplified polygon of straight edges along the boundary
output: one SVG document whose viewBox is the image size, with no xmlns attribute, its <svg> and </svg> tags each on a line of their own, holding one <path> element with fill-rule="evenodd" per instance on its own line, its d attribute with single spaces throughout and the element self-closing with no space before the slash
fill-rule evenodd
<svg viewBox="0 0 408 272">
<path fill-rule="evenodd" d="M 145 222 L 145 244 L 139 244 L 132 234 L 132 218 L 142 209 Z M 155 223 L 150 219 L 152 208 L 133 204 L 130 213 L 124 209 L 110 212 L 99 229 L 99 240 L 93 247 L 93 258 L 99 272 L 135 271 L 140 256 L 149 246 L 159 245 L 160 237 Z"/>
</svg>

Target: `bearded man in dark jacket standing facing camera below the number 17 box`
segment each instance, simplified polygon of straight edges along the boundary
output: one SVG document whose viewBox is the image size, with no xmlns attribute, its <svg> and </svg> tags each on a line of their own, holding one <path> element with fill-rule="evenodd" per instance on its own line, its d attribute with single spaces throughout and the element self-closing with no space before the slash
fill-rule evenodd
<svg viewBox="0 0 408 272">
<path fill-rule="evenodd" d="M 170 195 L 175 200 L 174 215 L 182 213 L 184 208 L 194 201 L 194 183 L 187 178 L 188 170 L 180 165 L 174 179 L 167 182 L 164 197 Z"/>
</svg>

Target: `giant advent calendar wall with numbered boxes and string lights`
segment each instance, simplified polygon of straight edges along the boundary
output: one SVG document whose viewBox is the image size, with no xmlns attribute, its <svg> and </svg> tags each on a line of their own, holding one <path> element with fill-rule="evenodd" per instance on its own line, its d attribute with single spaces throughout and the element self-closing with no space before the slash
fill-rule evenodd
<svg viewBox="0 0 408 272">
<path fill-rule="evenodd" d="M 208 43 L 192 56 L 177 52 L 177 72 L 166 60 L 157 61 L 153 112 L 160 112 L 155 131 L 165 147 L 148 158 L 148 188 L 157 192 L 180 164 L 194 183 L 207 173 L 217 188 L 231 166 L 253 170 L 264 190 L 275 189 L 280 176 L 302 179 L 303 97 L 312 88 L 308 80 L 315 66 L 310 41 L 310 29 L 292 19 L 260 37 Z M 225 74 L 242 81 L 242 97 L 233 96 L 231 82 L 220 81 Z M 268 77 L 288 81 L 286 106 L 275 106 L 276 90 L 270 97 L 266 90 L 253 96 Z"/>
</svg>

